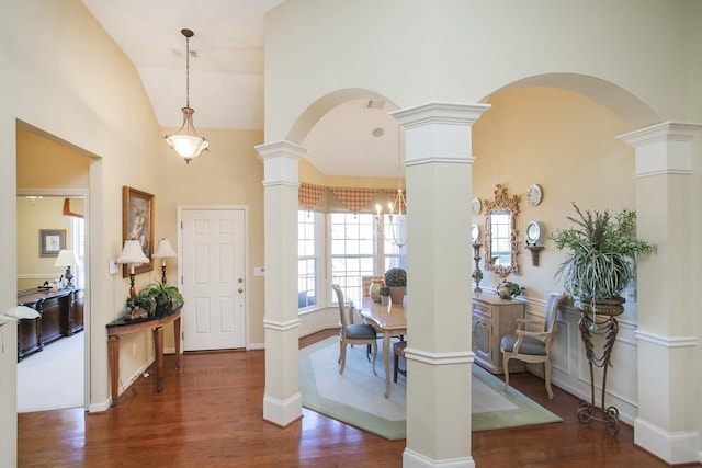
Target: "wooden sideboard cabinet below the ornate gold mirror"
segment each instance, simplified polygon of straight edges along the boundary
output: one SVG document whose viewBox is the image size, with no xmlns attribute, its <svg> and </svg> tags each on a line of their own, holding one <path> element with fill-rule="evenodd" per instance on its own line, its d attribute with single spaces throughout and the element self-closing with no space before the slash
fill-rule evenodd
<svg viewBox="0 0 702 468">
<path fill-rule="evenodd" d="M 480 293 L 473 297 L 471 316 L 475 362 L 492 374 L 505 374 L 500 340 L 517 330 L 517 319 L 524 317 L 524 303 Z M 510 374 L 523 370 L 523 363 L 510 362 Z"/>
</svg>

